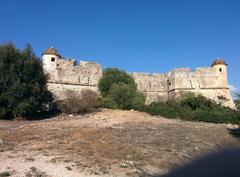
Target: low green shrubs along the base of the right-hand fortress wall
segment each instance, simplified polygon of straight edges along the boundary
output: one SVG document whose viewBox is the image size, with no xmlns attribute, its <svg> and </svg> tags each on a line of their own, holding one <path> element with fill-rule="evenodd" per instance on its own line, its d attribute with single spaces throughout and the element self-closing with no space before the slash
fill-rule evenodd
<svg viewBox="0 0 240 177">
<path fill-rule="evenodd" d="M 240 122 L 240 113 L 238 111 L 223 107 L 201 95 L 195 96 L 191 93 L 182 95 L 176 101 L 151 103 L 140 111 L 189 121 L 233 124 Z"/>
</svg>

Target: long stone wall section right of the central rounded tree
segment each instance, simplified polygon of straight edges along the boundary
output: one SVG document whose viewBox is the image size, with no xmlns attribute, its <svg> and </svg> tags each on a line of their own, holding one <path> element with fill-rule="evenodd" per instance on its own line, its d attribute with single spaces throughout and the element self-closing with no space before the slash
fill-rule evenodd
<svg viewBox="0 0 240 177">
<path fill-rule="evenodd" d="M 221 71 L 219 71 L 221 67 Z M 194 92 L 224 106 L 235 108 L 227 83 L 225 66 L 178 68 L 167 74 L 133 73 L 138 89 L 146 94 L 146 103 L 175 99 L 183 92 Z"/>
</svg>

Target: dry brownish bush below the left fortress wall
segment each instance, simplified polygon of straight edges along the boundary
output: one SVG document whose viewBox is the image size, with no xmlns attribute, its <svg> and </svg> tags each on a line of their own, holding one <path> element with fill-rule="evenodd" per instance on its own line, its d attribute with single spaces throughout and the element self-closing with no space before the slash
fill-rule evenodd
<svg viewBox="0 0 240 177">
<path fill-rule="evenodd" d="M 83 114 L 92 112 L 98 106 L 98 94 L 92 90 L 83 90 L 80 94 L 66 90 L 65 99 L 58 101 L 58 108 L 63 113 Z"/>
</svg>

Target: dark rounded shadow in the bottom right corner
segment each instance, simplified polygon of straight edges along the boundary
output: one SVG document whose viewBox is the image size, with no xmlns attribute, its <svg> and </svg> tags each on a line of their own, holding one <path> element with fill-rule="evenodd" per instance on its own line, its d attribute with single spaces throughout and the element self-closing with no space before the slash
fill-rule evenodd
<svg viewBox="0 0 240 177">
<path fill-rule="evenodd" d="M 239 148 L 224 149 L 200 157 L 174 169 L 169 174 L 156 175 L 155 177 L 238 177 L 240 173 L 239 163 Z"/>
</svg>

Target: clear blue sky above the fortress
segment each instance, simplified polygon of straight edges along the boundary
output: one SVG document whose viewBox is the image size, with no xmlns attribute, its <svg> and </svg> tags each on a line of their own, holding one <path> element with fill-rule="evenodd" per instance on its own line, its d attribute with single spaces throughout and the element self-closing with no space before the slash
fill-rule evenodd
<svg viewBox="0 0 240 177">
<path fill-rule="evenodd" d="M 0 43 L 35 53 L 54 46 L 67 57 L 127 71 L 167 72 L 229 64 L 240 88 L 240 1 L 5 0 Z"/>
</svg>

